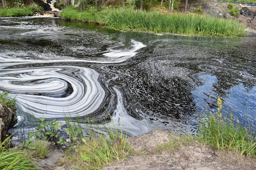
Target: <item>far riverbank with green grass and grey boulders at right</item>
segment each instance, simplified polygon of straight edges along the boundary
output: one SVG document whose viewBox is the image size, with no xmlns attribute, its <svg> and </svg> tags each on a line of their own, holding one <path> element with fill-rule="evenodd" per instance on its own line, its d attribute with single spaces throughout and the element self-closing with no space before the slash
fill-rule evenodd
<svg viewBox="0 0 256 170">
<path fill-rule="evenodd" d="M 248 32 L 256 33 L 256 20 L 241 14 L 238 14 L 238 18 L 230 15 L 228 4 L 228 2 L 213 0 L 207 4 L 196 4 L 200 6 L 200 9 L 195 8 L 191 4 L 188 15 L 184 15 L 181 12 L 172 13 L 167 9 L 161 8 L 161 6 L 158 7 L 161 9 L 160 11 L 157 8 L 147 12 L 135 11 L 131 7 L 125 9 L 106 7 L 99 11 L 94 8 L 79 11 L 75 7 L 66 7 L 61 13 L 58 12 L 58 16 L 68 20 L 94 22 L 116 30 L 211 37 L 243 37 L 248 35 Z M 235 4 L 234 7 L 242 11 L 242 6 L 239 4 Z M 256 14 L 254 7 L 248 8 L 249 13 Z M 32 15 L 33 10 L 38 11 L 39 9 L 29 7 L 27 10 L 19 10 L 20 13 L 17 11 L 14 12 L 11 9 L 2 9 L 0 10 L 0 16 L 27 16 Z M 145 20 L 147 22 L 144 22 Z"/>
</svg>

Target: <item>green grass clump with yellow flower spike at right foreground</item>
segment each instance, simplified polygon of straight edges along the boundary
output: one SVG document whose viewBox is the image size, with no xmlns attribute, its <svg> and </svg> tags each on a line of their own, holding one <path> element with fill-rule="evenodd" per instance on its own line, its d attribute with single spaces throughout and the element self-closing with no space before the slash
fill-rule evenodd
<svg viewBox="0 0 256 170">
<path fill-rule="evenodd" d="M 217 118 L 214 115 L 208 115 L 201 122 L 196 140 L 218 150 L 235 151 L 256 157 L 255 134 L 240 124 L 234 124 L 232 112 L 230 113 L 230 120 L 227 117 L 223 119 L 220 112 L 221 108 L 222 101 L 218 98 Z"/>
</svg>

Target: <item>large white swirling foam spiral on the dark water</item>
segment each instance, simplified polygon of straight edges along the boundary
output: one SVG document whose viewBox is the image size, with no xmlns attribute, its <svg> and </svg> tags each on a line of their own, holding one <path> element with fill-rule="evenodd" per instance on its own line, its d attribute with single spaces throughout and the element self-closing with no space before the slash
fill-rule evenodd
<svg viewBox="0 0 256 170">
<path fill-rule="evenodd" d="M 90 68 L 49 66 L 13 69 L 0 73 L 2 91 L 9 91 L 22 110 L 36 117 L 83 116 L 93 113 L 105 91 L 99 73 Z"/>
</svg>

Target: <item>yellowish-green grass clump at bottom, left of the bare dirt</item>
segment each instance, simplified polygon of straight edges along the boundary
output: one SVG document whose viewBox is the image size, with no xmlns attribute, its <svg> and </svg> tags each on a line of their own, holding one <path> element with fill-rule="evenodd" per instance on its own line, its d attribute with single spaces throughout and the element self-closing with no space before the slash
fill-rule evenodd
<svg viewBox="0 0 256 170">
<path fill-rule="evenodd" d="M 105 127 L 105 130 L 89 130 L 88 137 L 76 139 L 77 145 L 70 147 L 59 163 L 65 164 L 69 160 L 69 164 L 77 165 L 73 168 L 97 169 L 127 159 L 130 151 L 130 145 L 126 143 L 127 136 L 116 128 Z"/>
</svg>

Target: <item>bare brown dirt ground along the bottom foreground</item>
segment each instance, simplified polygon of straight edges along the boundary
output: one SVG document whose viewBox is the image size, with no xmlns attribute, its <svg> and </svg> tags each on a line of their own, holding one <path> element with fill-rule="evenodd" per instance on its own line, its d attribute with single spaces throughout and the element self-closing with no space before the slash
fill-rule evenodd
<svg viewBox="0 0 256 170">
<path fill-rule="evenodd" d="M 155 153 L 157 146 L 173 142 L 174 149 Z M 132 150 L 141 155 L 130 156 L 125 161 L 116 161 L 102 170 L 256 170 L 256 159 L 235 152 L 218 151 L 203 146 L 197 141 L 178 140 L 171 132 L 154 130 L 143 135 L 129 137 Z M 46 159 L 38 160 L 43 170 L 73 170 L 72 165 L 58 166 L 63 156 L 55 150 Z"/>
</svg>

